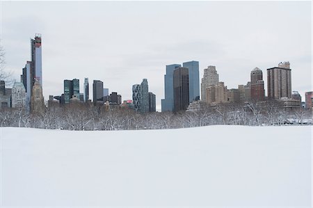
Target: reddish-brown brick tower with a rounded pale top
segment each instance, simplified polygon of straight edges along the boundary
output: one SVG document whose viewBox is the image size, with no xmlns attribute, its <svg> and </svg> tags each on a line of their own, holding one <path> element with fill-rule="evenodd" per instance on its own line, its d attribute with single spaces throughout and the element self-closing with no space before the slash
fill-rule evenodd
<svg viewBox="0 0 313 208">
<path fill-rule="evenodd" d="M 251 73 L 251 99 L 253 100 L 264 100 L 265 90 L 262 70 L 255 67 Z"/>
</svg>

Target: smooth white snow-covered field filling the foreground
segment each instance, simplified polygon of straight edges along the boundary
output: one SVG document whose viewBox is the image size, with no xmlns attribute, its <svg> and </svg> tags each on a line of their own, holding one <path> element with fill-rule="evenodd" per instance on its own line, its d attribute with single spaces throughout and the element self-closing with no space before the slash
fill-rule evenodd
<svg viewBox="0 0 313 208">
<path fill-rule="evenodd" d="M 2 207 L 311 207 L 312 127 L 0 136 Z"/>
</svg>

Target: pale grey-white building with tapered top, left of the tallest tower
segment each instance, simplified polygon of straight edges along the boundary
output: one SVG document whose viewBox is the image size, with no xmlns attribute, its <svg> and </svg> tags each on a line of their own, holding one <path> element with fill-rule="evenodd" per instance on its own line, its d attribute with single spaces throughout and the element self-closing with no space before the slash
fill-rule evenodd
<svg viewBox="0 0 313 208">
<path fill-rule="evenodd" d="M 15 82 L 12 88 L 12 107 L 25 109 L 26 91 L 22 82 Z"/>
</svg>

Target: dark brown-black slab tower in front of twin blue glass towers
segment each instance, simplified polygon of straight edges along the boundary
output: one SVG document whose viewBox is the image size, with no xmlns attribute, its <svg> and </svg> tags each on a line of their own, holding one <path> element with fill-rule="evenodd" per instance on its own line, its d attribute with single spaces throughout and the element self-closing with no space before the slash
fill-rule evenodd
<svg viewBox="0 0 313 208">
<path fill-rule="evenodd" d="M 174 111 L 185 111 L 189 105 L 189 75 L 187 67 L 177 67 L 173 73 Z"/>
</svg>

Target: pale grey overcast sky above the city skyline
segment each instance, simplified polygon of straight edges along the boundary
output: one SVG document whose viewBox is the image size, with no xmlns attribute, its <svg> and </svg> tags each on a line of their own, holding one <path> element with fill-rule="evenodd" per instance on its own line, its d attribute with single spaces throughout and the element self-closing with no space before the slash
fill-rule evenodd
<svg viewBox="0 0 313 208">
<path fill-rule="evenodd" d="M 64 79 L 104 81 L 131 99 L 146 78 L 164 97 L 166 65 L 215 65 L 220 81 L 237 88 L 250 71 L 291 64 L 292 90 L 312 90 L 311 1 L 1 1 L 6 70 L 19 81 L 31 60 L 30 38 L 42 34 L 45 99 L 63 93 Z M 266 90 L 267 95 L 267 90 Z"/>
</svg>

